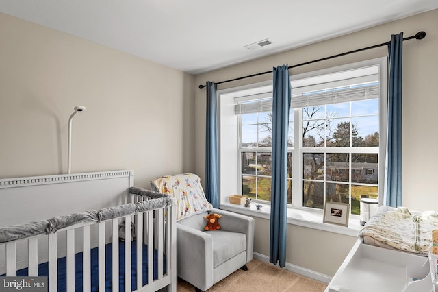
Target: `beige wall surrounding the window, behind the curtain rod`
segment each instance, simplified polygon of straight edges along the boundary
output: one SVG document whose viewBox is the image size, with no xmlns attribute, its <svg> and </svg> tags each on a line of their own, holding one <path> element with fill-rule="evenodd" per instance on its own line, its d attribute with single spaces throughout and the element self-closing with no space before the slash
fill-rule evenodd
<svg viewBox="0 0 438 292">
<path fill-rule="evenodd" d="M 220 82 L 269 71 L 273 66 L 282 64 L 292 66 L 387 42 L 391 34 L 404 32 L 404 37 L 406 37 L 424 30 L 427 34 L 424 40 L 409 40 L 404 42 L 403 48 L 402 175 L 404 206 L 411 208 L 411 210 L 438 210 L 438 195 L 436 194 L 434 179 L 438 165 L 438 155 L 435 154 L 435 145 L 438 145 L 436 126 L 438 95 L 435 86 L 438 82 L 437 27 L 438 10 L 433 10 L 274 56 L 198 75 L 195 77 L 195 84 L 196 86 L 205 84 L 207 80 Z M 292 74 L 305 73 L 382 56 L 387 56 L 386 47 L 297 67 L 289 72 Z M 270 80 L 271 78 L 272 74 L 268 74 L 220 84 L 218 90 Z M 196 153 L 198 157 L 202 158 L 205 155 L 205 89 L 196 89 L 195 93 Z M 199 173 L 202 178 L 204 177 L 205 167 L 202 159 L 196 160 L 196 173 Z M 355 241 L 355 238 L 350 236 L 331 234 L 299 226 L 288 226 L 287 232 L 287 263 L 329 276 L 333 276 Z M 268 220 L 257 219 L 255 252 L 269 255 L 268 238 Z"/>
</svg>

